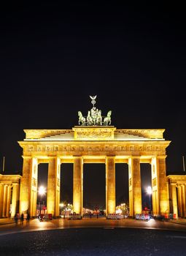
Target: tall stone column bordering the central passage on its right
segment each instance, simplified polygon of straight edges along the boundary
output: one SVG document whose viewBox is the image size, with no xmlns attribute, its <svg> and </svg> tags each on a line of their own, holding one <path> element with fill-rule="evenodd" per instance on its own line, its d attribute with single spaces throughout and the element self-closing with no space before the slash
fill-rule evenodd
<svg viewBox="0 0 186 256">
<path fill-rule="evenodd" d="M 106 157 L 106 215 L 115 214 L 115 157 Z"/>
</svg>

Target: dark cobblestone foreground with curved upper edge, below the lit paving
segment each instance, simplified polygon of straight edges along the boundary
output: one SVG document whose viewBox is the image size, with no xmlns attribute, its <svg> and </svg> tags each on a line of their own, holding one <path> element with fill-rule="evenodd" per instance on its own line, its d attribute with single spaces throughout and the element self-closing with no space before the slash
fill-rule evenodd
<svg viewBox="0 0 186 256">
<path fill-rule="evenodd" d="M 186 255 L 186 233 L 134 228 L 73 228 L 0 236 L 0 255 Z"/>
</svg>

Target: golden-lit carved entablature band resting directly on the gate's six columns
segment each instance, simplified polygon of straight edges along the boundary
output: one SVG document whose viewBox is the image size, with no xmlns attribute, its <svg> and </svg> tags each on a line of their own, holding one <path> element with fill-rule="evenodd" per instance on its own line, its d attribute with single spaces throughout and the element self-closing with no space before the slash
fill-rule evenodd
<svg viewBox="0 0 186 256">
<path fill-rule="evenodd" d="M 165 155 L 170 141 L 20 141 L 24 156 L 37 155 Z"/>
</svg>

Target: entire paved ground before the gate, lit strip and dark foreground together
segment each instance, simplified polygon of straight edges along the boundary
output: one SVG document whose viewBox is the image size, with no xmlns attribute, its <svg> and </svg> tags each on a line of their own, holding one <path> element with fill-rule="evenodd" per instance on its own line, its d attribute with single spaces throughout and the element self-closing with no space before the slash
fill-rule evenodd
<svg viewBox="0 0 186 256">
<path fill-rule="evenodd" d="M 0 219 L 0 255 L 186 255 L 185 219 Z"/>
</svg>

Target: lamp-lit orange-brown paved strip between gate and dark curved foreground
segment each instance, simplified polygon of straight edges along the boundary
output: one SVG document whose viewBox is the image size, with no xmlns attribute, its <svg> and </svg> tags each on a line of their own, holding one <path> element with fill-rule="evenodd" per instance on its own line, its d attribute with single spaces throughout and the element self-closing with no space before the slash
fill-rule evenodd
<svg viewBox="0 0 186 256">
<path fill-rule="evenodd" d="M 39 219 L 31 219 L 29 222 L 24 220 L 23 224 L 19 221 L 15 224 L 14 219 L 0 219 L 0 236 L 11 233 L 23 233 L 30 231 L 67 229 L 67 228 L 142 228 L 154 230 L 177 230 L 186 232 L 186 219 L 172 219 L 168 221 L 150 221 L 136 219 L 53 219 L 40 222 Z"/>
</svg>

